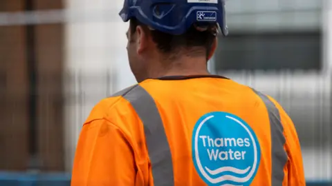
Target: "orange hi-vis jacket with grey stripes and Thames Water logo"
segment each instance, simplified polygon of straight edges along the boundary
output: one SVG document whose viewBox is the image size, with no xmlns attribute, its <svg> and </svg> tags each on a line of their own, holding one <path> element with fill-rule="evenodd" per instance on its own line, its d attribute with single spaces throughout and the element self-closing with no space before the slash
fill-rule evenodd
<svg viewBox="0 0 332 186">
<path fill-rule="evenodd" d="M 222 76 L 147 79 L 100 101 L 72 186 L 305 185 L 297 132 L 270 96 Z"/>
</svg>

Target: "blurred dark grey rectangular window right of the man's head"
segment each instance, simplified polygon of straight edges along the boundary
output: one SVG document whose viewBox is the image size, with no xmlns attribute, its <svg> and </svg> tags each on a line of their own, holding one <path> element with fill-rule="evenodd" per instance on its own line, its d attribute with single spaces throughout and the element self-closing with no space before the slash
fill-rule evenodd
<svg viewBox="0 0 332 186">
<path fill-rule="evenodd" d="M 219 39 L 219 70 L 320 70 L 322 34 L 312 32 L 231 33 Z"/>
</svg>

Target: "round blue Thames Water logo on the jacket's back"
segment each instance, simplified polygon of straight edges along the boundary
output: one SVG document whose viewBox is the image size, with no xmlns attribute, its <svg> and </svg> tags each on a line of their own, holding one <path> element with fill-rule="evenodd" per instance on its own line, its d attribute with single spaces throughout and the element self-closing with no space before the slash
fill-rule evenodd
<svg viewBox="0 0 332 186">
<path fill-rule="evenodd" d="M 227 112 L 211 112 L 197 121 L 192 149 L 196 170 L 208 185 L 250 185 L 261 158 L 255 132 Z"/>
</svg>

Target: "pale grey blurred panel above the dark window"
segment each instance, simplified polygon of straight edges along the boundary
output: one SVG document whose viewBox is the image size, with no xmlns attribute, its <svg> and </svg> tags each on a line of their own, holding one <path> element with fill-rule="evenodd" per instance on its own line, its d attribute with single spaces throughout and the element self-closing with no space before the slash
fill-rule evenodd
<svg viewBox="0 0 332 186">
<path fill-rule="evenodd" d="M 321 25 L 325 0 L 226 1 L 227 20 L 232 30 L 301 30 Z"/>
</svg>

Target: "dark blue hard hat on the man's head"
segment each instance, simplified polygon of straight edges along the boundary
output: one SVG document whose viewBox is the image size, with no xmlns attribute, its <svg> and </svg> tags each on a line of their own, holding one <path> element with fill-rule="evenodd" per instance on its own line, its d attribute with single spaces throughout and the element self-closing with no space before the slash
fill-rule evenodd
<svg viewBox="0 0 332 186">
<path fill-rule="evenodd" d="M 183 34 L 193 23 L 218 23 L 223 35 L 228 34 L 225 0 L 124 0 L 119 14 L 124 22 L 134 17 L 168 34 Z"/>
</svg>

